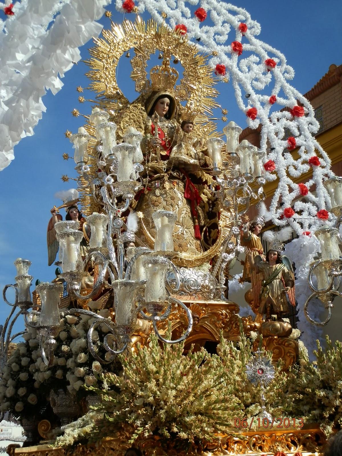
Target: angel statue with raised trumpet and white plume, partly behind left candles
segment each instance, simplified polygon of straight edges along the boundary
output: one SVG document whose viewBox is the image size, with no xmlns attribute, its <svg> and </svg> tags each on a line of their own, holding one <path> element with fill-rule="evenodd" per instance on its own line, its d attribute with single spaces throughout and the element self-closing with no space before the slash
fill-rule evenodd
<svg viewBox="0 0 342 456">
<path fill-rule="evenodd" d="M 79 230 L 83 231 L 83 239 L 81 241 L 81 255 L 84 258 L 87 253 L 88 253 L 88 242 L 90 238 L 90 233 L 89 231 L 89 226 L 88 223 L 86 223 L 85 218 L 81 214 L 81 212 L 78 210 L 78 191 L 75 188 L 71 188 L 70 190 L 67 190 L 66 192 L 57 192 L 55 194 L 55 197 L 61 198 L 63 201 L 62 206 L 59 207 L 52 207 L 51 213 L 52 217 L 49 220 L 49 224 L 47 225 L 47 254 L 48 254 L 48 265 L 51 266 L 51 264 L 55 261 L 56 255 L 59 249 L 59 244 L 56 238 L 56 230 L 55 230 L 55 223 L 61 222 L 63 220 L 63 217 L 61 214 L 59 214 L 59 209 L 62 209 L 65 207 L 65 210 L 67 212 L 65 216 L 65 220 L 72 220 L 72 221 L 78 221 L 79 223 Z M 58 263 L 59 265 L 59 263 Z"/>
</svg>

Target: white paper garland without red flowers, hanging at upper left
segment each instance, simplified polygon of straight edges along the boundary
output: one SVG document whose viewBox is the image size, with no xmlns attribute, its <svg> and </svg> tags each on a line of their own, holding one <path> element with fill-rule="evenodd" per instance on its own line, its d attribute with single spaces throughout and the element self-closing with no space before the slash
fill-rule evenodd
<svg viewBox="0 0 342 456">
<path fill-rule="evenodd" d="M 46 108 L 41 97 L 62 88 L 58 75 L 80 60 L 78 48 L 102 26 L 96 21 L 110 0 L 23 0 L 0 34 L 0 170 L 14 159 L 13 147 Z M 57 16 L 56 13 L 59 12 Z M 51 27 L 47 27 L 54 21 Z M 0 24 L 1 26 L 1 24 Z"/>
</svg>

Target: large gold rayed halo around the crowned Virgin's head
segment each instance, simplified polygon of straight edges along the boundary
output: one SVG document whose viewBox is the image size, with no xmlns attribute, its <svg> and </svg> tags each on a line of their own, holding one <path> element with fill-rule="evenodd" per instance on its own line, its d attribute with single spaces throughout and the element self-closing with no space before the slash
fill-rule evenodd
<svg viewBox="0 0 342 456">
<path fill-rule="evenodd" d="M 212 109 L 218 106 L 214 100 L 218 91 L 213 88 L 216 80 L 206 64 L 207 58 L 199 54 L 196 45 L 187 38 L 165 24 L 158 26 L 153 20 L 145 22 L 140 16 L 135 22 L 124 21 L 120 25 L 112 22 L 111 30 L 102 33 L 104 38 L 95 38 L 95 47 L 89 50 L 92 58 L 85 62 L 91 71 L 86 75 L 92 80 L 90 87 L 98 92 L 100 104 L 104 108 L 110 104 L 113 115 L 130 104 L 118 86 L 116 72 L 120 57 L 134 48 L 131 78 L 135 81 L 135 90 L 141 93 L 141 101 L 153 90 L 146 68 L 150 56 L 158 51 L 163 53 L 165 61 L 174 56 L 184 68 L 183 77 L 174 89 L 175 98 L 192 104 L 199 114 L 197 122 L 207 122 L 207 115 L 212 116 Z M 178 74 L 174 69 L 171 71 Z"/>
</svg>

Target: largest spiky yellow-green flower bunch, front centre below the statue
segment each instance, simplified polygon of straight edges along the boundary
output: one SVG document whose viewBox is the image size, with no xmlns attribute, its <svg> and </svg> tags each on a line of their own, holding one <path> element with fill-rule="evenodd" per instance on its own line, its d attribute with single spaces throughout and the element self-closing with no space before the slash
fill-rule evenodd
<svg viewBox="0 0 342 456">
<path fill-rule="evenodd" d="M 87 434 L 99 440 L 120 428 L 130 429 L 132 442 L 152 434 L 212 441 L 216 433 L 229 432 L 243 407 L 222 359 L 204 348 L 183 356 L 183 349 L 184 343 L 161 347 L 152 334 L 148 347 L 139 345 L 137 353 L 120 355 L 123 375 L 104 374 L 107 391 L 89 388 L 101 402 L 88 420 L 83 417 L 82 423 L 70 426 L 57 445 L 72 444 Z"/>
</svg>

